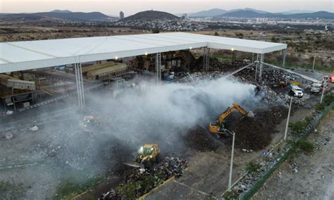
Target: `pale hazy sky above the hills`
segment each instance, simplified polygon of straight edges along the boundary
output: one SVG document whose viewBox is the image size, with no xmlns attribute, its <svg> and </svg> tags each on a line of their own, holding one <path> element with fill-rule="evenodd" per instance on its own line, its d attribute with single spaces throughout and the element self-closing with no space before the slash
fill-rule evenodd
<svg viewBox="0 0 334 200">
<path fill-rule="evenodd" d="M 140 11 L 154 10 L 168 13 L 194 13 L 197 11 L 221 8 L 230 10 L 235 8 L 254 8 L 268 12 L 282 12 L 290 10 L 329 11 L 334 12 L 334 0 L 218 0 L 218 1 L 192 1 L 192 0 L 0 0 L 0 13 L 35 13 L 55 9 L 93 12 L 99 11 L 106 15 L 118 15 L 120 11 L 125 16 Z"/>
</svg>

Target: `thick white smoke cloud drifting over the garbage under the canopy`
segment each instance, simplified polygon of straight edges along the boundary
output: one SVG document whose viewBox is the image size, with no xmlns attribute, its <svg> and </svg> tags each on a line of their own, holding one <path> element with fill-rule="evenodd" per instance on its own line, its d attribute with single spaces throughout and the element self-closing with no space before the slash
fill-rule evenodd
<svg viewBox="0 0 334 200">
<path fill-rule="evenodd" d="M 196 85 L 154 85 L 140 82 L 115 99 L 91 97 L 97 113 L 107 121 L 110 134 L 135 142 L 140 137 L 173 134 L 172 128 L 206 125 L 232 103 L 241 104 L 254 96 L 254 85 L 226 80 L 209 80 Z M 161 138 L 163 138 L 161 135 Z"/>
</svg>

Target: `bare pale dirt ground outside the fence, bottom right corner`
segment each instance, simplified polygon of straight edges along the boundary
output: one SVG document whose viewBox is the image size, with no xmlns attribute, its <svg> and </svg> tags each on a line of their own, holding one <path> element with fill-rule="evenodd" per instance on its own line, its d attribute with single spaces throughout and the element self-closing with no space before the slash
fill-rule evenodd
<svg viewBox="0 0 334 200">
<path fill-rule="evenodd" d="M 252 199 L 334 199 L 333 122 L 332 110 L 307 138 L 315 151 L 280 165 Z"/>
</svg>

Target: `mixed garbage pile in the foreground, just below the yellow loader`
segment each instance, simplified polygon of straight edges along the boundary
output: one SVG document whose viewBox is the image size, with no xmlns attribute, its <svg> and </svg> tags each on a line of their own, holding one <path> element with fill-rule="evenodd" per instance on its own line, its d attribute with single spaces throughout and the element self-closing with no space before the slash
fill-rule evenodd
<svg viewBox="0 0 334 200">
<path fill-rule="evenodd" d="M 125 181 L 99 199 L 137 199 L 170 177 L 180 177 L 187 167 L 182 158 L 166 157 L 152 168 L 135 168 L 125 173 Z"/>
</svg>

